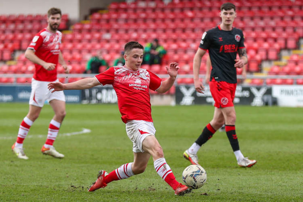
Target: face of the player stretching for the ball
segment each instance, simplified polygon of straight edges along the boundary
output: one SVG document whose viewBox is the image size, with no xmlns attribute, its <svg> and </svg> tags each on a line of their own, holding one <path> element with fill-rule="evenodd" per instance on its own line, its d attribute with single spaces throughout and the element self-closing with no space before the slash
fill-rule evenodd
<svg viewBox="0 0 303 202">
<path fill-rule="evenodd" d="M 128 54 L 124 55 L 125 65 L 127 68 L 137 71 L 143 60 L 143 50 L 142 49 L 132 49 Z"/>
</svg>

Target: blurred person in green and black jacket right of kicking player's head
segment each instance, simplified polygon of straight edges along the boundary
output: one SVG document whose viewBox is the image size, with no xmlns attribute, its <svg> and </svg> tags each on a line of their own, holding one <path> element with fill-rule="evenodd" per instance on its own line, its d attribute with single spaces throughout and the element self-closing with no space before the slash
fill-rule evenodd
<svg viewBox="0 0 303 202">
<path fill-rule="evenodd" d="M 144 48 L 143 64 L 161 64 L 161 59 L 166 50 L 159 44 L 158 39 L 147 43 Z"/>
</svg>

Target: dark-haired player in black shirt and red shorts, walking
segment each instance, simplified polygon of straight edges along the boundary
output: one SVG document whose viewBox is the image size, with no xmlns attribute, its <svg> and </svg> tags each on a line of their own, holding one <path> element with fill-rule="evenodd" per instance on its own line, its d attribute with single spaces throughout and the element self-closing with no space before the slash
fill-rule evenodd
<svg viewBox="0 0 303 202">
<path fill-rule="evenodd" d="M 247 63 L 243 32 L 232 26 L 236 15 L 234 4 L 222 4 L 221 24 L 203 33 L 200 46 L 194 57 L 194 85 L 197 92 L 203 93 L 204 86 L 199 80 L 200 64 L 202 56 L 207 50 L 209 52 L 212 65 L 209 87 L 215 101 L 215 110 L 213 119 L 203 129 L 193 145 L 183 153 L 183 157 L 192 164 L 199 164 L 198 150 L 224 123 L 238 165 L 251 167 L 257 162 L 243 156 L 235 130 L 236 112 L 233 100 L 237 86 L 236 68 L 243 68 L 244 64 Z M 237 53 L 239 59 L 236 59 Z"/>
</svg>

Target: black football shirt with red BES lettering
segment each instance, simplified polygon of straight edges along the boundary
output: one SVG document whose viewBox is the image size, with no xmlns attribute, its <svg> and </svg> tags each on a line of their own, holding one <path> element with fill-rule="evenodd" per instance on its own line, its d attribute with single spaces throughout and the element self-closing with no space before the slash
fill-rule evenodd
<svg viewBox="0 0 303 202">
<path fill-rule="evenodd" d="M 210 80 L 237 83 L 235 59 L 238 49 L 245 48 L 241 29 L 224 31 L 218 25 L 203 33 L 199 48 L 209 52 L 212 66 Z"/>
</svg>

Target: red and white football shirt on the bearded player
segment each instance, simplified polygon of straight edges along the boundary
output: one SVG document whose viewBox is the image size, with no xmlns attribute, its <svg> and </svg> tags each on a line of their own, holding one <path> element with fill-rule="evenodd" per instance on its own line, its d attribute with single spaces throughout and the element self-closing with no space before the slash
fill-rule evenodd
<svg viewBox="0 0 303 202">
<path fill-rule="evenodd" d="M 56 64 L 56 68 L 51 71 L 44 69 L 41 65 L 35 64 L 34 79 L 38 81 L 55 81 L 57 79 L 61 40 L 61 32 L 57 31 L 56 33 L 53 33 L 46 28 L 42 29 L 34 36 L 27 48 L 33 49 L 36 56 L 45 62 Z"/>
</svg>

